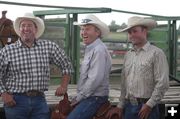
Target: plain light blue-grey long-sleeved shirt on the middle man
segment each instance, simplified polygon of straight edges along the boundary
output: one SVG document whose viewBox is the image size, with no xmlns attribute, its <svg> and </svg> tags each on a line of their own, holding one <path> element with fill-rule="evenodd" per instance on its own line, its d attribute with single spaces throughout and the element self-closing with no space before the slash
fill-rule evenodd
<svg viewBox="0 0 180 119">
<path fill-rule="evenodd" d="M 111 56 L 100 39 L 86 46 L 81 64 L 76 100 L 109 95 Z"/>
</svg>

